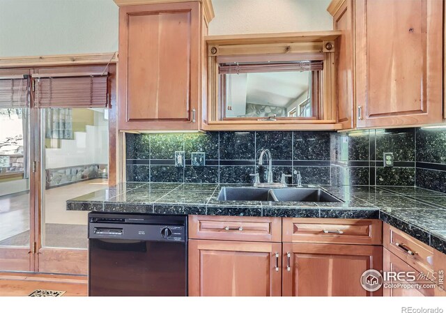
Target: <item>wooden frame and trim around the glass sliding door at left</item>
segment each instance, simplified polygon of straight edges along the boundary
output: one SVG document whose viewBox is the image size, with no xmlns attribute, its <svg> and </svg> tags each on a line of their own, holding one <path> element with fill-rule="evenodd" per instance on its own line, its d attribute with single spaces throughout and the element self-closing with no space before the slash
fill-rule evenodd
<svg viewBox="0 0 446 313">
<path fill-rule="evenodd" d="M 117 75 L 117 53 L 100 53 L 100 54 L 68 54 L 68 55 L 49 55 L 49 56 L 24 56 L 24 57 L 10 57 L 0 58 L 0 70 L 10 73 L 10 75 L 22 74 L 29 71 L 32 74 L 39 68 L 52 68 L 57 71 L 57 68 L 79 68 L 84 66 L 104 66 L 109 68 L 109 184 L 114 185 L 118 181 L 117 178 L 117 163 L 118 163 L 118 130 L 116 125 L 116 75 Z M 65 71 L 66 72 L 66 71 Z M 40 232 L 41 232 L 41 160 L 40 160 L 40 112 L 33 107 L 34 94 L 30 93 L 29 103 L 29 123 L 30 123 L 30 149 L 29 149 L 29 164 L 30 164 L 30 242 L 29 247 L 0 247 L 0 264 L 10 264 L 13 259 L 17 262 L 17 258 L 24 260 L 24 255 L 29 258 L 26 262 L 29 263 L 28 268 L 8 268 L 5 270 L 15 270 L 19 272 L 39 272 L 40 268 L 51 273 L 66 273 L 77 275 L 86 275 L 88 263 L 85 266 L 79 266 L 77 262 L 86 259 L 88 250 L 83 249 L 67 249 L 67 248 L 48 248 L 41 247 Z M 32 127 L 31 127 L 32 126 Z M 38 141 L 36 141 L 38 139 Z M 32 171 L 32 164 L 36 162 L 36 171 Z M 54 261 L 56 258 L 59 261 L 52 263 L 52 270 L 47 270 L 43 264 L 40 264 L 39 259 L 47 257 Z M 71 260 L 71 264 L 70 264 Z M 66 266 L 66 262 L 70 266 Z M 60 267 L 58 268 L 58 266 Z M 0 268 L 3 270 L 3 268 Z M 63 271 L 65 270 L 65 272 Z"/>
</svg>

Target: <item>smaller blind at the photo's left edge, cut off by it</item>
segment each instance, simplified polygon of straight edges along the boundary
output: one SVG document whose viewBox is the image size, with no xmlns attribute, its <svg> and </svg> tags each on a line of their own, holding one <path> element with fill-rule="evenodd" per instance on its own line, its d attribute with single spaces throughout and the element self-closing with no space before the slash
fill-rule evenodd
<svg viewBox="0 0 446 313">
<path fill-rule="evenodd" d="M 23 75 L 0 77 L 0 108 L 26 107 L 28 79 Z"/>
</svg>

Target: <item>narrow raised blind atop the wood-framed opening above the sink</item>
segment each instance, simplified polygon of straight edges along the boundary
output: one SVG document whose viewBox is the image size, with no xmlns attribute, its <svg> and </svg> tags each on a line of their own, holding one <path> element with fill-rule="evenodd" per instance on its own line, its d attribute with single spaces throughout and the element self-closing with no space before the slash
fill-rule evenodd
<svg viewBox="0 0 446 313">
<path fill-rule="evenodd" d="M 302 61 L 289 63 L 223 63 L 219 66 L 220 74 L 237 74 L 247 72 L 291 72 L 323 70 L 322 61 Z"/>
</svg>

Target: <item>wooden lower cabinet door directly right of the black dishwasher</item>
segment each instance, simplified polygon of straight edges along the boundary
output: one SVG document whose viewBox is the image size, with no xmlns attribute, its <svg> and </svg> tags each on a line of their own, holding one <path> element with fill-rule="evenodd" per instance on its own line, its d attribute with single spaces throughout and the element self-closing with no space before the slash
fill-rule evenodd
<svg viewBox="0 0 446 313">
<path fill-rule="evenodd" d="M 280 296 L 281 243 L 189 241 L 189 296 Z"/>
</svg>

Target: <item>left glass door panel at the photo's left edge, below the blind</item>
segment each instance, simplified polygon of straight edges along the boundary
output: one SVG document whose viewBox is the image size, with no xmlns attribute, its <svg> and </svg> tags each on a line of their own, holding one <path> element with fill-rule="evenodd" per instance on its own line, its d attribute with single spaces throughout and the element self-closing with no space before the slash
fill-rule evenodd
<svg viewBox="0 0 446 313">
<path fill-rule="evenodd" d="M 30 270 L 29 112 L 0 108 L 0 270 Z"/>
</svg>

